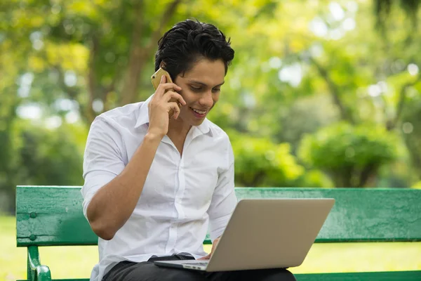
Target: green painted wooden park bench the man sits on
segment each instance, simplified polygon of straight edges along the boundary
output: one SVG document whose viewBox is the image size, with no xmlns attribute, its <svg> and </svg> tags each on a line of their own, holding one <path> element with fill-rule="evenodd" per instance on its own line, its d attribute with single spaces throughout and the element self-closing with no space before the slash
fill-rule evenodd
<svg viewBox="0 0 421 281">
<path fill-rule="evenodd" d="M 27 280 L 51 280 L 48 266 L 40 261 L 39 246 L 97 244 L 98 237 L 82 214 L 80 189 L 67 186 L 17 187 L 16 240 L 18 247 L 27 247 Z M 421 190 L 236 188 L 236 195 L 239 200 L 276 197 L 335 198 L 335 206 L 316 242 L 421 241 Z M 210 241 L 206 239 L 204 243 L 210 244 Z M 295 277 L 298 281 L 420 281 L 421 270 L 314 273 L 296 274 Z"/>
</svg>

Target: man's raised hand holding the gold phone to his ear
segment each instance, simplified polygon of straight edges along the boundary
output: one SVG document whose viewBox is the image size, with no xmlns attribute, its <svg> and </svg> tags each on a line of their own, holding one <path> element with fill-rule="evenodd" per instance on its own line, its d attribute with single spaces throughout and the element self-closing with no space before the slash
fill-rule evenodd
<svg viewBox="0 0 421 281">
<path fill-rule="evenodd" d="M 180 115 L 179 104 L 181 106 L 186 105 L 186 102 L 176 91 L 181 91 L 181 88 L 173 83 L 166 83 L 166 77 L 163 75 L 159 86 L 148 105 L 148 134 L 151 134 L 154 137 L 163 138 L 163 136 L 168 133 L 168 124 L 170 120 L 169 113 L 171 110 L 174 112 L 174 119 L 177 119 L 178 115 Z"/>
</svg>

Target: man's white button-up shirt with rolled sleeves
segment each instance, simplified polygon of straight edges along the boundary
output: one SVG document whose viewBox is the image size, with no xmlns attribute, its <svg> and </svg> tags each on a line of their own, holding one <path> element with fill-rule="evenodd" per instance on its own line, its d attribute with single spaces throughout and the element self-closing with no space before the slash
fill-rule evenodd
<svg viewBox="0 0 421 281">
<path fill-rule="evenodd" d="M 123 171 L 149 126 L 147 101 L 103 113 L 92 123 L 83 157 L 83 214 L 95 192 Z M 98 238 L 92 281 L 120 261 L 180 252 L 206 256 L 203 240 L 222 235 L 234 211 L 234 155 L 227 134 L 205 119 L 187 134 L 182 157 L 164 136 L 138 204 L 112 240 Z"/>
</svg>

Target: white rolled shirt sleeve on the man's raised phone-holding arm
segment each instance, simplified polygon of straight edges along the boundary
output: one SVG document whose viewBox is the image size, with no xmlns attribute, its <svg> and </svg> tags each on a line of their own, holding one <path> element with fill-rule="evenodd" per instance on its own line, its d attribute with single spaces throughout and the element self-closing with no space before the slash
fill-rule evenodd
<svg viewBox="0 0 421 281">
<path fill-rule="evenodd" d="M 85 153 L 83 155 L 83 179 L 85 180 L 81 193 L 83 196 L 83 215 L 91 202 L 93 195 L 113 178 L 123 171 L 126 166 L 121 154 L 120 133 L 106 122 L 97 117 L 88 133 Z"/>
</svg>

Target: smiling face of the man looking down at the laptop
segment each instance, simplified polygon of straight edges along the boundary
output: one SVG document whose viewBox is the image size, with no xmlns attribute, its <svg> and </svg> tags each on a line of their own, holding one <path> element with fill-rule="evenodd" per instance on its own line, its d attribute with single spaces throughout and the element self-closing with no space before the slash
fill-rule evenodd
<svg viewBox="0 0 421 281">
<path fill-rule="evenodd" d="M 206 58 L 196 62 L 183 77 L 178 75 L 174 82 L 182 88 L 180 95 L 186 102 L 178 118 L 190 126 L 199 126 L 218 101 L 224 77 L 223 61 Z"/>
</svg>

